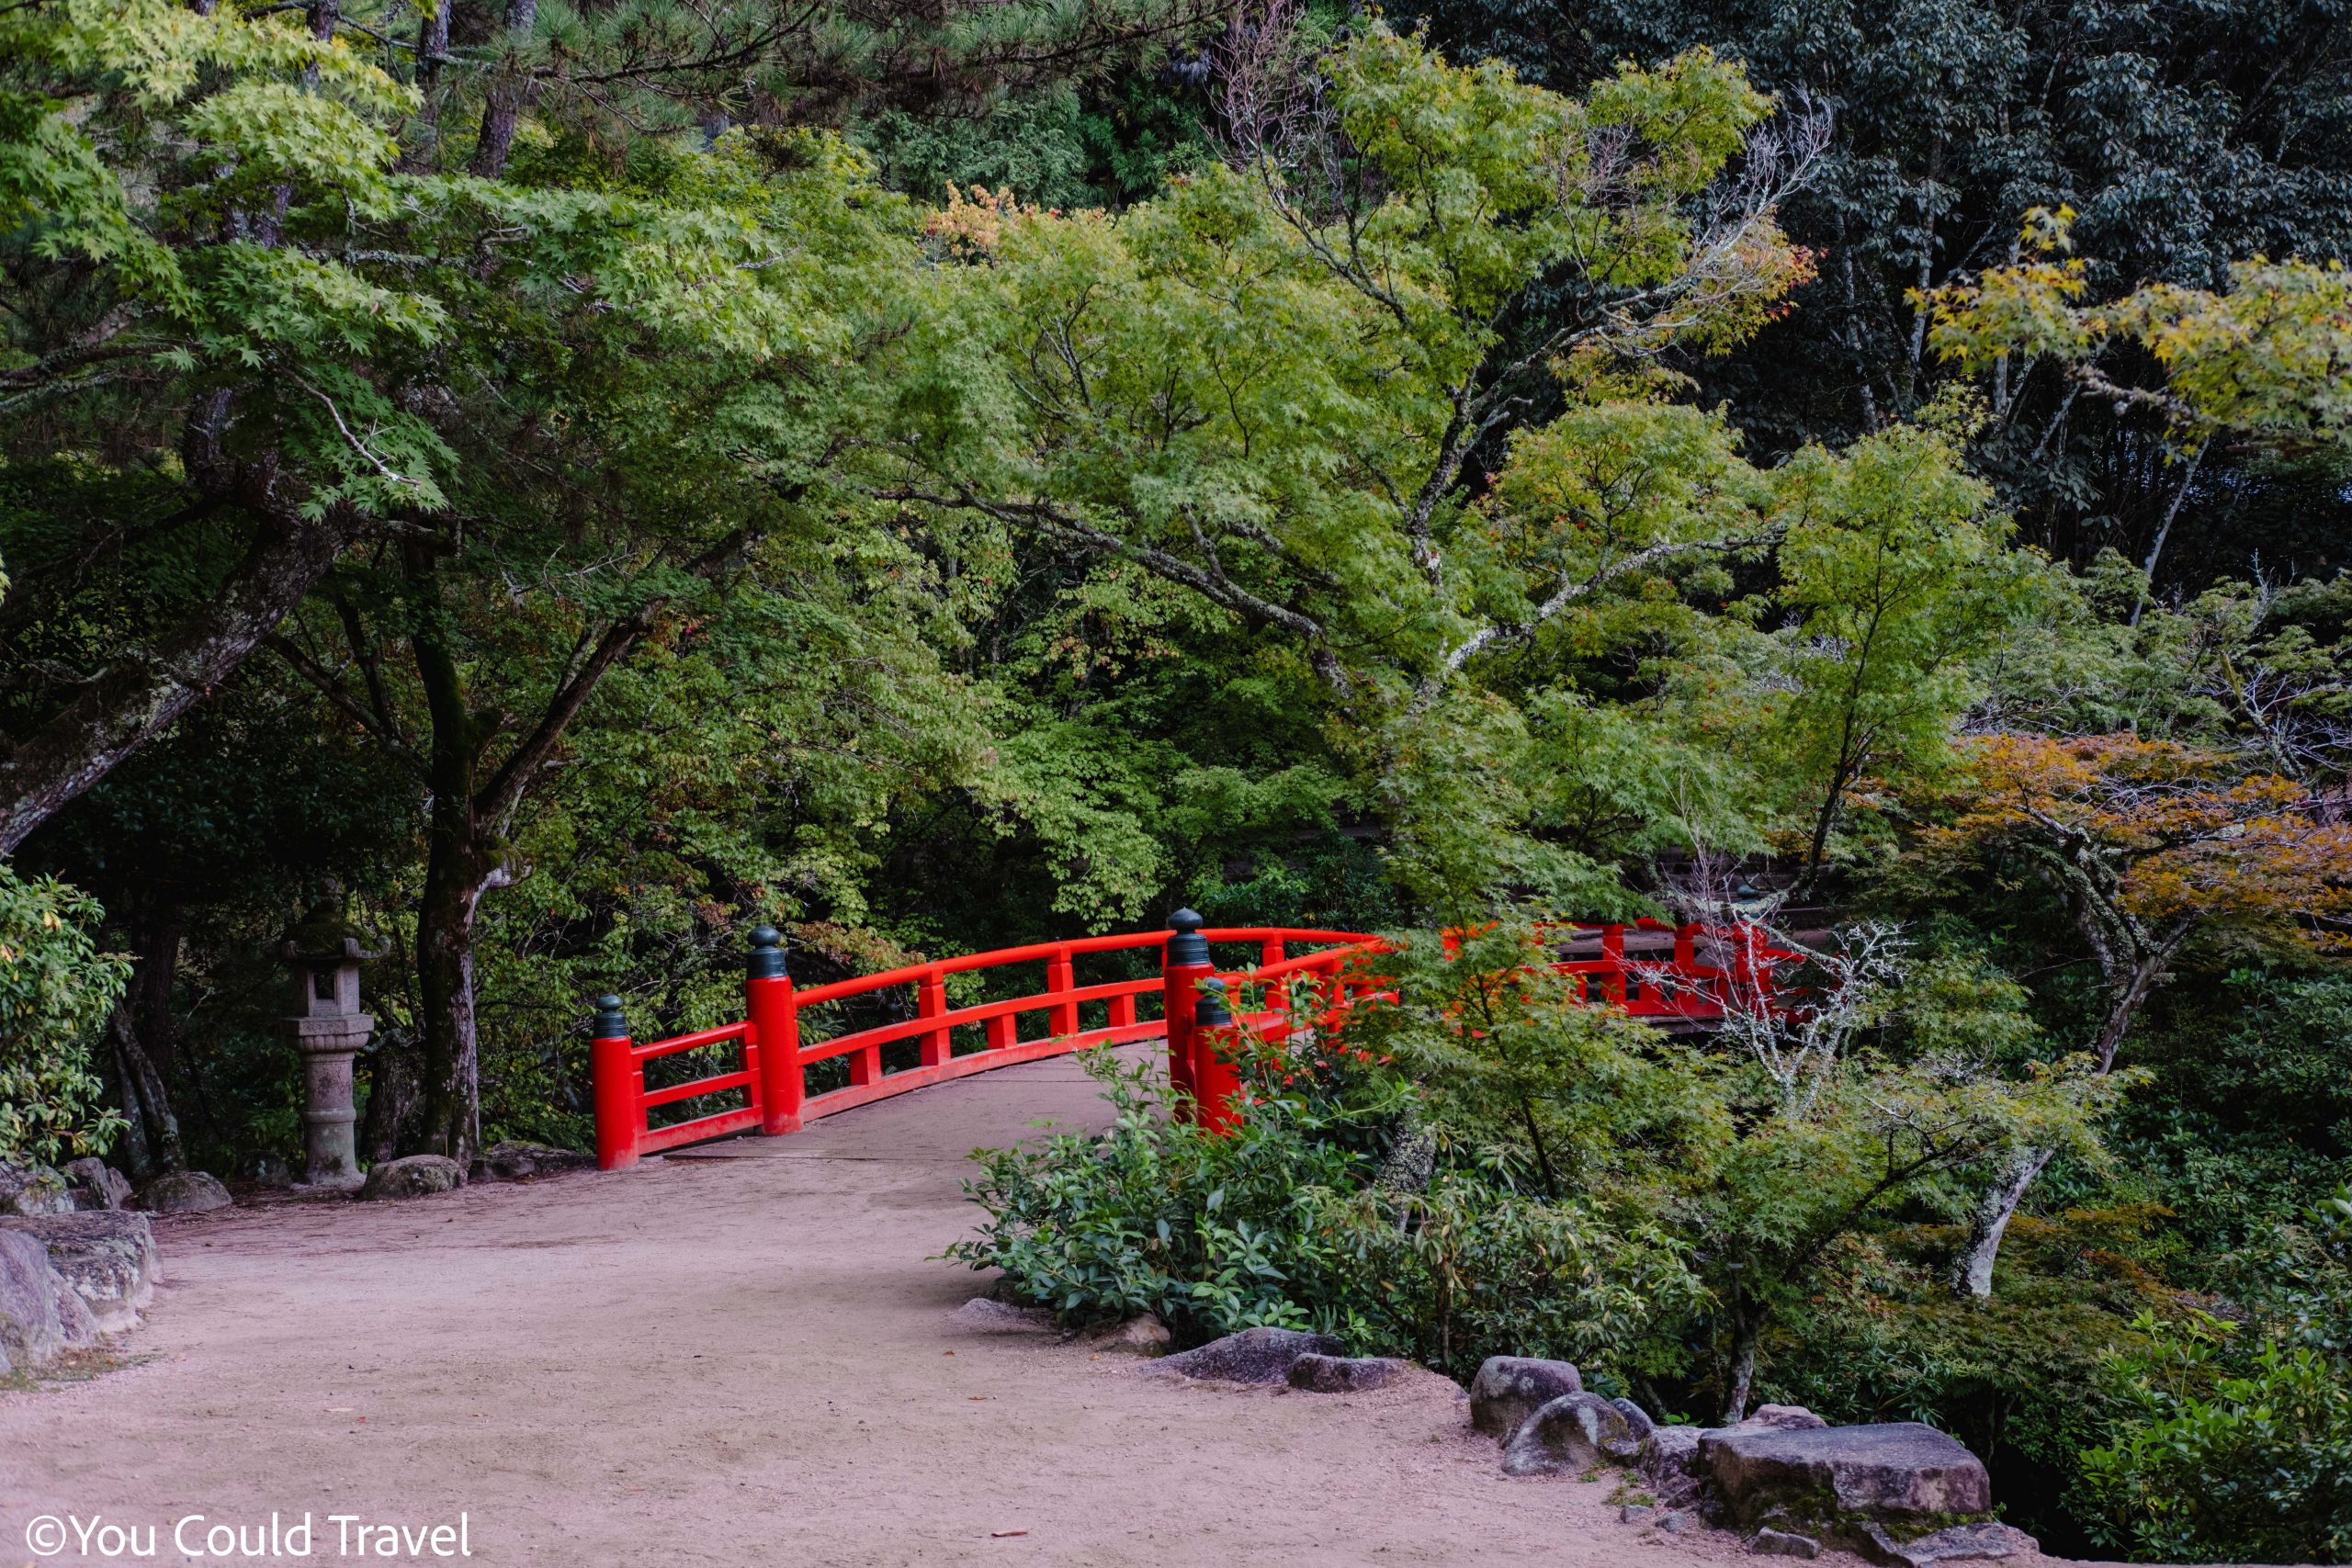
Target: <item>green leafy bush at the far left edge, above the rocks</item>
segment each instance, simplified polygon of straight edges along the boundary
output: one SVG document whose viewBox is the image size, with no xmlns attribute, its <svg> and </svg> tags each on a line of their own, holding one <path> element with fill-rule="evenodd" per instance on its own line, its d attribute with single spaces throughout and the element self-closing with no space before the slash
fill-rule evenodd
<svg viewBox="0 0 2352 1568">
<path fill-rule="evenodd" d="M 89 1039 L 129 978 L 129 959 L 89 936 L 101 914 L 54 877 L 0 865 L 0 1159 L 101 1152 L 122 1126 L 89 1070 Z"/>
</svg>

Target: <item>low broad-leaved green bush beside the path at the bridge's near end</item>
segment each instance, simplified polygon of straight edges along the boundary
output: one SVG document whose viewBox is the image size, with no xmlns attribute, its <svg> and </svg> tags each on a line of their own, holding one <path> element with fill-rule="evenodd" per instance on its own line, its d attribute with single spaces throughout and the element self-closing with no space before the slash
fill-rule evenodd
<svg viewBox="0 0 2352 1568">
<path fill-rule="evenodd" d="M 1468 1375 L 1489 1354 L 1630 1363 L 1651 1316 L 1696 1295 L 1670 1241 L 1519 1192 L 1508 1159 L 1381 1187 L 1411 1100 L 1369 1051 L 1247 1048 L 1230 1135 L 1164 1119 L 1148 1070 L 1082 1060 L 1110 1131 L 983 1152 L 967 1192 L 988 1222 L 948 1248 L 1065 1319 L 1157 1312 L 1181 1340 L 1319 1328 Z"/>
</svg>

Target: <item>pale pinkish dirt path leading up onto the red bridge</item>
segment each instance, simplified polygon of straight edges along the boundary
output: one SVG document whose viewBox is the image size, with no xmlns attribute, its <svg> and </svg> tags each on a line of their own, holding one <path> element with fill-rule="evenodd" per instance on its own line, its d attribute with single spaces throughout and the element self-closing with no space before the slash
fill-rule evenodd
<svg viewBox="0 0 2352 1568">
<path fill-rule="evenodd" d="M 329 1514 L 463 1514 L 501 1568 L 1740 1554 L 1618 1523 L 1604 1483 L 1505 1481 L 1435 1375 L 1171 1387 L 960 1328 L 978 1276 L 929 1258 L 971 1227 L 964 1154 L 1096 1112 L 1073 1063 L 1037 1063 L 722 1159 L 167 1222 L 127 1342 L 148 1359 L 0 1394 L 0 1563 L 42 1514 L 160 1523 L 158 1561 L 183 1561 L 176 1519 L 273 1509 L 313 1516 L 310 1561 L 348 1554 Z"/>
</svg>

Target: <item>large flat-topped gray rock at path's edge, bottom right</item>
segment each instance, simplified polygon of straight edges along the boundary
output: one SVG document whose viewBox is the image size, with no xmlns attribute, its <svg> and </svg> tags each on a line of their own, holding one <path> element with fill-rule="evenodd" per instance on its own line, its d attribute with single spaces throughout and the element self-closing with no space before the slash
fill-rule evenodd
<svg viewBox="0 0 2352 1568">
<path fill-rule="evenodd" d="M 1985 1465 L 1922 1422 L 1872 1427 L 1757 1427 L 1703 1432 L 1700 1462 L 1733 1523 L 1790 1519 L 1884 1521 L 1983 1514 Z"/>
</svg>

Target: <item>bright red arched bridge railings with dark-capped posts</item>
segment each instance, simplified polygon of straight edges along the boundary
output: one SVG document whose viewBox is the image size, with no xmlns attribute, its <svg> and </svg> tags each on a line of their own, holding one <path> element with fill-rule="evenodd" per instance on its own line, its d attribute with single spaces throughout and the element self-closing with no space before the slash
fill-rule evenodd
<svg viewBox="0 0 2352 1568">
<path fill-rule="evenodd" d="M 1555 936 L 1566 954 L 1555 969 L 1578 978 L 1585 1001 L 1684 1027 L 1719 1020 L 1736 1006 L 1773 1006 L 1776 969 L 1802 957 L 1764 945 L 1752 926 L 1644 919 L 1571 926 Z M 1202 1121 L 1223 1126 L 1237 1088 L 1230 1058 L 1214 1048 L 1225 1030 L 1240 1025 L 1279 1041 L 1385 994 L 1385 978 L 1369 964 L 1385 950 L 1376 936 L 1298 926 L 1204 929 L 1190 910 L 1178 910 L 1167 931 L 1002 947 L 809 990 L 793 987 L 781 940 L 774 926 L 750 933 L 741 1023 L 637 1044 L 628 1037 L 621 999 L 597 999 L 590 1072 L 600 1168 L 755 1128 L 795 1133 L 818 1117 L 927 1084 L 1162 1037 L 1169 1079 L 1200 1107 Z M 1247 950 L 1254 961 L 1218 969 L 1216 947 Z M 1150 954 L 1160 964 L 1141 978 L 1080 980 L 1082 961 L 1117 961 L 1105 954 Z M 985 973 L 995 990 L 1018 990 L 1014 973 L 1030 966 L 1044 969 L 1040 992 L 948 1004 L 950 976 Z M 1131 959 L 1127 969 L 1134 969 Z M 804 1016 L 816 1011 L 828 1018 L 844 1011 L 840 1004 L 858 999 L 868 1006 L 896 1001 L 894 1011 L 906 1013 L 903 987 L 913 987 L 913 1016 L 818 1041 L 804 1037 Z M 988 990 L 988 980 L 981 987 Z M 1228 1011 L 1228 997 L 1247 999 L 1240 1018 Z M 647 1063 L 715 1046 L 736 1046 L 715 1051 L 729 1058 L 724 1072 L 647 1086 Z M 736 1103 L 654 1126 L 652 1112 L 673 1105 L 691 1110 L 715 1095 Z"/>
</svg>

